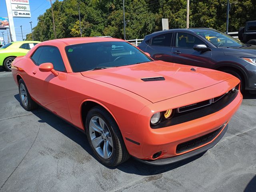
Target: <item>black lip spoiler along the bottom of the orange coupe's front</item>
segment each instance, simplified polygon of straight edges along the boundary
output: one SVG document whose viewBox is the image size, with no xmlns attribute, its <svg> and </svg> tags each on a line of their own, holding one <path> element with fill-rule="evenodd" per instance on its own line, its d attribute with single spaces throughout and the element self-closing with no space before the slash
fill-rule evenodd
<svg viewBox="0 0 256 192">
<path fill-rule="evenodd" d="M 228 124 L 225 124 L 224 126 L 222 126 L 222 130 L 221 130 L 220 134 L 210 144 L 205 145 L 196 150 L 184 153 L 182 155 L 178 155 L 178 156 L 170 157 L 170 158 L 164 158 L 164 159 L 156 159 L 156 160 L 142 160 L 142 159 L 138 159 L 136 157 L 134 157 L 134 158 L 140 162 L 150 164 L 150 165 L 168 165 L 168 164 L 176 163 L 176 162 L 191 158 L 193 156 L 196 156 L 196 155 L 198 155 L 202 152 L 205 152 L 208 149 L 214 147 L 220 141 L 220 139 L 224 136 L 227 129 L 228 129 Z"/>
</svg>

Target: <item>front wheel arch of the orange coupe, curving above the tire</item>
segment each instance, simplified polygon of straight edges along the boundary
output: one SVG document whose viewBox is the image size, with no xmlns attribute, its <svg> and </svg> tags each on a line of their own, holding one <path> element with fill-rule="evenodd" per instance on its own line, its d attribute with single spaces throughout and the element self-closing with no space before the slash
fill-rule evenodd
<svg viewBox="0 0 256 192">
<path fill-rule="evenodd" d="M 118 121 L 116 120 L 114 114 L 112 114 L 112 112 L 102 103 L 93 100 L 93 99 L 86 99 L 83 100 L 81 103 L 81 107 L 80 107 L 80 118 L 81 118 L 81 122 L 82 122 L 82 126 L 84 128 L 84 130 L 86 129 L 86 116 L 89 112 L 89 110 L 95 106 L 102 106 L 116 121 L 116 124 L 119 126 Z"/>
</svg>

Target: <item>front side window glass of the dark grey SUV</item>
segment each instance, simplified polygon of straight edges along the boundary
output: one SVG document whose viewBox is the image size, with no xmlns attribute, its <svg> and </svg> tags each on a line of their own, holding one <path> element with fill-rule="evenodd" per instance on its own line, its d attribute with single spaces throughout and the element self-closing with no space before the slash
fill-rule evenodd
<svg viewBox="0 0 256 192">
<path fill-rule="evenodd" d="M 188 34 L 188 33 L 177 33 L 176 38 L 176 47 L 180 48 L 193 48 L 196 44 L 205 44 L 202 40 L 198 37 Z"/>
</svg>

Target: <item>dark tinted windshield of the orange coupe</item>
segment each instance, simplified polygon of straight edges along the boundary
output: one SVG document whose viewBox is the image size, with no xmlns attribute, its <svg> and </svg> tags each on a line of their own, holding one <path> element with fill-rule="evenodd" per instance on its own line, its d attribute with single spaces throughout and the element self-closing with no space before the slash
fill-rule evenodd
<svg viewBox="0 0 256 192">
<path fill-rule="evenodd" d="M 127 42 L 94 42 L 66 46 L 74 72 L 132 65 L 153 61 Z"/>
</svg>

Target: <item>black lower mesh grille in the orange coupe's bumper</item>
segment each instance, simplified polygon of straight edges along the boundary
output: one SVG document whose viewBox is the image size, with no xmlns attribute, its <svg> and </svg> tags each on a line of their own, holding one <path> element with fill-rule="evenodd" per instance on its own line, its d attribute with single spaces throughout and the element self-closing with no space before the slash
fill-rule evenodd
<svg viewBox="0 0 256 192">
<path fill-rule="evenodd" d="M 218 135 L 218 133 L 222 130 L 223 126 L 213 132 L 210 132 L 206 135 L 203 135 L 201 137 L 195 138 L 193 140 L 178 144 L 176 148 L 176 153 L 182 153 L 184 151 L 188 151 L 190 149 L 196 148 L 198 146 L 201 146 L 203 144 L 206 144 L 210 142 L 211 140 Z"/>
</svg>

